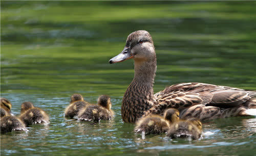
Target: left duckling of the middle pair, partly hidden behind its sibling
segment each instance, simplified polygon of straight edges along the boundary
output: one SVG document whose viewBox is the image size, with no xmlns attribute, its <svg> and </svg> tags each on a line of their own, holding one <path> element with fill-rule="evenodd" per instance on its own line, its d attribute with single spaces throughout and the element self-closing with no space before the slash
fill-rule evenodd
<svg viewBox="0 0 256 156">
<path fill-rule="evenodd" d="M 77 118 L 78 112 L 87 105 L 88 103 L 83 100 L 82 95 L 73 94 L 70 97 L 70 105 L 65 110 L 65 117 Z"/>
</svg>

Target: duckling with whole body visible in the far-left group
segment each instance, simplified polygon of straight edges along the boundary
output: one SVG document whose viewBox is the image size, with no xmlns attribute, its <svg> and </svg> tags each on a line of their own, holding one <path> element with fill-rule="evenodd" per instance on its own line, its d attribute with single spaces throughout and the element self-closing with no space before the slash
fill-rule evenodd
<svg viewBox="0 0 256 156">
<path fill-rule="evenodd" d="M 45 111 L 33 106 L 32 102 L 23 102 L 20 111 L 20 120 L 22 120 L 26 126 L 32 124 L 44 124 L 50 123 L 49 116 Z"/>
</svg>

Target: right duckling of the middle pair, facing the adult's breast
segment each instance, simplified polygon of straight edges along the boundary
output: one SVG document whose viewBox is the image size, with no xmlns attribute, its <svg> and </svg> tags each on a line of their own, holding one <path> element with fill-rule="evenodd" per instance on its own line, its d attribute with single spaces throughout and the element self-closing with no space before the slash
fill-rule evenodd
<svg viewBox="0 0 256 156">
<path fill-rule="evenodd" d="M 111 99 L 108 95 L 100 95 L 98 105 L 89 105 L 83 108 L 78 115 L 78 120 L 94 121 L 111 120 L 114 117 L 114 112 L 111 110 Z"/>
</svg>

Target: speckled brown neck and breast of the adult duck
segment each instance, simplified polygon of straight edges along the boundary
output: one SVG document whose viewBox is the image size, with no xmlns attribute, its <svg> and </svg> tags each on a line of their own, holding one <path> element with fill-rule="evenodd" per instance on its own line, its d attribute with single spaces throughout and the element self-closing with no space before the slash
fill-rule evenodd
<svg viewBox="0 0 256 156">
<path fill-rule="evenodd" d="M 134 62 L 134 79 L 127 88 L 121 107 L 124 122 L 134 123 L 154 102 L 154 79 L 156 75 L 156 58 L 150 61 Z"/>
</svg>

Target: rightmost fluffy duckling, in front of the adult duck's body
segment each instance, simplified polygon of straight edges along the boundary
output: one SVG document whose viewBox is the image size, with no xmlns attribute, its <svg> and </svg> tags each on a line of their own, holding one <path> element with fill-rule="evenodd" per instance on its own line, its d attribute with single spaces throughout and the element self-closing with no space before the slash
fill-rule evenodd
<svg viewBox="0 0 256 156">
<path fill-rule="evenodd" d="M 197 140 L 202 134 L 202 123 L 196 118 L 180 120 L 169 127 L 167 137 Z"/>
</svg>

